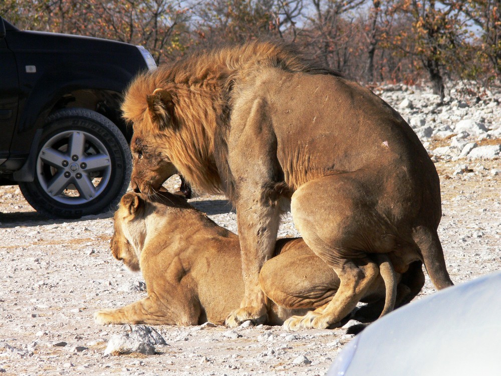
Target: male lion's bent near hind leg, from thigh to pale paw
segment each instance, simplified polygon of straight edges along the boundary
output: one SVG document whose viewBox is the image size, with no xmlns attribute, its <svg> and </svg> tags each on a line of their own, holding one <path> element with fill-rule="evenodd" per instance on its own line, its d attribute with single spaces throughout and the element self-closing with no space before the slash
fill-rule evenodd
<svg viewBox="0 0 501 376">
<path fill-rule="evenodd" d="M 369 199 L 356 173 L 324 176 L 294 193 L 294 223 L 310 249 L 337 274 L 340 285 L 327 306 L 288 319 L 287 328 L 327 328 L 340 322 L 378 278 L 378 264 L 368 254 L 371 248 L 385 251 L 377 239 L 388 231 L 374 216 Z"/>
</svg>

